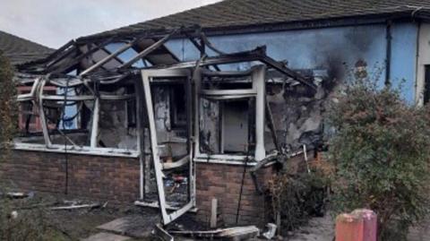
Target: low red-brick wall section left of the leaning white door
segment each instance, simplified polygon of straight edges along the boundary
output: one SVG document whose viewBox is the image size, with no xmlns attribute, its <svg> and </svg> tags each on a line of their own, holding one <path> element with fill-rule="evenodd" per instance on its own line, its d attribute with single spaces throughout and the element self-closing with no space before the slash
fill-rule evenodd
<svg viewBox="0 0 430 241">
<path fill-rule="evenodd" d="M 139 159 L 68 154 L 67 166 L 67 189 L 73 197 L 109 202 L 139 198 Z M 0 179 L 15 190 L 64 194 L 64 154 L 13 151 L 0 165 Z"/>
</svg>

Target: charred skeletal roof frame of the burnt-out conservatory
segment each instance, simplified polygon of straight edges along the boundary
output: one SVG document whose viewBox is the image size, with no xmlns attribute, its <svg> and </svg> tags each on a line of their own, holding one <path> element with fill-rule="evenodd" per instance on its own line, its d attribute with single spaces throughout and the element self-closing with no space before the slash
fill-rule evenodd
<svg viewBox="0 0 430 241">
<path fill-rule="evenodd" d="M 257 61 L 269 65 L 271 68 L 286 74 L 311 89 L 316 89 L 314 82 L 309 78 L 288 69 L 283 63 L 267 56 L 265 47 L 256 47 L 251 51 L 226 54 L 211 45 L 201 28 L 194 27 L 193 34 L 190 34 L 189 30 L 177 28 L 165 35 L 143 32 L 135 37 L 117 36 L 116 38 L 99 39 L 86 43 L 71 40 L 46 58 L 19 65 L 18 70 L 19 74 L 30 74 L 27 76 L 30 76 L 30 78 L 33 78 L 32 75 L 48 75 L 48 79 L 67 76 L 67 81 L 75 78 L 84 82 L 116 83 L 132 75 L 139 74 L 139 69 L 142 68 L 186 68 L 211 65 L 219 70 L 217 65 Z M 165 47 L 165 43 L 176 34 L 185 35 L 191 40 L 194 47 L 201 52 L 202 58 L 198 62 L 180 62 L 169 51 L 168 47 Z M 107 49 L 109 44 L 121 44 L 121 47 L 111 52 Z M 211 48 L 218 56 L 207 56 L 205 53 L 206 47 Z M 131 49 L 135 51 L 135 55 L 127 61 L 118 57 Z M 142 60 L 145 61 L 144 66 L 136 67 L 135 64 Z M 80 71 L 77 76 L 73 77 L 67 74 L 78 69 Z M 22 82 L 23 79 L 25 78 L 19 81 Z M 24 82 L 28 82 L 28 79 L 23 80 L 22 83 Z"/>
</svg>

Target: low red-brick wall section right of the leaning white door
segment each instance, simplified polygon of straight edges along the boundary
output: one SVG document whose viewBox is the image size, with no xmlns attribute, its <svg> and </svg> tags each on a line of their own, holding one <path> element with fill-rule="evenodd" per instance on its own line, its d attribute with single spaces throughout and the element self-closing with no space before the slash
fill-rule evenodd
<svg viewBox="0 0 430 241">
<path fill-rule="evenodd" d="M 211 200 L 218 200 L 220 219 L 226 225 L 236 225 L 237 204 L 242 184 L 243 166 L 216 163 L 196 163 L 196 189 L 198 219 L 209 223 Z M 273 173 L 272 168 L 262 168 L 257 172 L 260 185 L 266 185 Z M 246 170 L 245 183 L 239 211 L 239 225 L 263 226 L 269 211 L 264 195 L 255 191 L 254 182 Z"/>
</svg>

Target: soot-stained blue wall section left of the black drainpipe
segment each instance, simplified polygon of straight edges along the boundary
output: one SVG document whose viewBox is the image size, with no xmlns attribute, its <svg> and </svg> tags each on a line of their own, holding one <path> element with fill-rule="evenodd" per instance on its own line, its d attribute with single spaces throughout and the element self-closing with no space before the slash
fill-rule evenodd
<svg viewBox="0 0 430 241">
<path fill-rule="evenodd" d="M 336 79 L 344 78 L 344 71 L 354 67 L 358 60 L 364 60 L 369 68 L 383 69 L 387 44 L 383 24 L 217 36 L 210 40 L 227 53 L 265 45 L 269 56 L 287 61 L 292 69 L 326 69 L 331 78 Z M 168 47 L 184 60 L 199 57 L 187 39 L 172 40 Z M 245 68 L 247 65 L 235 67 Z"/>
</svg>

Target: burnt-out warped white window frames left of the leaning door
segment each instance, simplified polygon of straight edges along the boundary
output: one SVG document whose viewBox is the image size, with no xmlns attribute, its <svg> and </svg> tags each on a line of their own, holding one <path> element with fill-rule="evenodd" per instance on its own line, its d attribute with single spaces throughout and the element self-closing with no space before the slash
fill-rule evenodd
<svg viewBox="0 0 430 241">
<path fill-rule="evenodd" d="M 133 88 L 90 85 L 73 75 L 29 83 L 31 86 L 18 87 L 22 134 L 15 139 L 16 147 L 84 152 L 107 148 L 110 153 L 137 150 Z"/>
</svg>

